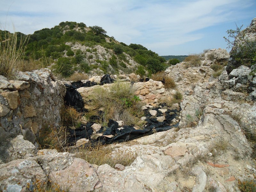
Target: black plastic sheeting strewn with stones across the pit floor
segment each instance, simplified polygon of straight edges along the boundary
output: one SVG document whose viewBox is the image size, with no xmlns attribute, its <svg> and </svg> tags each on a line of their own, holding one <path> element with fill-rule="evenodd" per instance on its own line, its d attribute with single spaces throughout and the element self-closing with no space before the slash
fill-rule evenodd
<svg viewBox="0 0 256 192">
<path fill-rule="evenodd" d="M 101 142 L 102 144 L 109 144 L 113 142 L 123 142 L 128 140 L 137 139 L 146 135 L 153 134 L 153 128 L 156 129 L 156 132 L 167 131 L 172 129 L 173 127 L 177 127 L 179 123 L 175 125 L 170 125 L 172 119 L 178 116 L 178 112 L 180 110 L 170 110 L 168 109 L 165 114 L 158 111 L 161 108 L 149 108 L 148 110 L 156 110 L 157 115 L 151 116 L 147 111 L 145 111 L 145 116 L 147 124 L 144 126 L 144 129 L 135 129 L 133 126 L 126 126 L 124 125 L 122 128 L 118 126 L 118 123 L 112 119 L 109 119 L 108 127 L 105 128 L 101 127 L 101 129 L 97 133 L 102 133 L 102 136 L 99 136 L 96 140 L 92 140 L 92 132 L 94 131 L 91 126 L 93 122 L 88 122 L 87 124 L 82 124 L 78 129 L 68 129 L 69 132 L 69 143 L 71 145 L 76 144 L 76 141 L 81 138 L 89 139 L 93 142 Z M 165 120 L 163 122 L 158 122 L 156 120 L 157 116 L 165 116 Z M 108 135 L 113 135 L 112 138 L 108 138 Z"/>
</svg>

